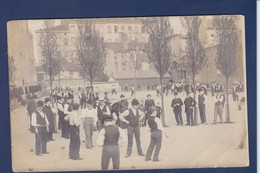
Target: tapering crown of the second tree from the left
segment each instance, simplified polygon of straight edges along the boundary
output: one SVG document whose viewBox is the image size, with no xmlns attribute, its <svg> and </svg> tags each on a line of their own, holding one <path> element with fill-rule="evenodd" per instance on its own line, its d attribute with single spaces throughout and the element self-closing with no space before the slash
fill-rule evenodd
<svg viewBox="0 0 260 173">
<path fill-rule="evenodd" d="M 92 87 L 94 80 L 104 73 L 105 44 L 95 28 L 93 19 L 79 20 L 78 29 L 76 49 L 81 67 L 80 74 L 84 80 L 90 81 Z"/>
</svg>

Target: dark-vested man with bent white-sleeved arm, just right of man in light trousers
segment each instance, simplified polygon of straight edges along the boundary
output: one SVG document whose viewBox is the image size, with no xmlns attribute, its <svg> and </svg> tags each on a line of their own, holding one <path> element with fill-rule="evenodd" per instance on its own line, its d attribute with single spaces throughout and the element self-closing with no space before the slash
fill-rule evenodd
<svg viewBox="0 0 260 173">
<path fill-rule="evenodd" d="M 102 126 L 102 119 L 104 119 L 107 116 L 111 116 L 109 107 L 106 106 L 104 100 L 99 100 L 99 105 L 97 106 L 97 116 L 98 116 L 98 121 L 97 121 L 97 129 L 100 131 L 103 126 Z"/>
</svg>

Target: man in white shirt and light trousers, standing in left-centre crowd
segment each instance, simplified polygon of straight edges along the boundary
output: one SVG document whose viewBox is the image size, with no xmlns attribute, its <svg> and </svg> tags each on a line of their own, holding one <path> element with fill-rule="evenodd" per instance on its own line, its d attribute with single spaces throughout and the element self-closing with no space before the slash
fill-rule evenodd
<svg viewBox="0 0 260 173">
<path fill-rule="evenodd" d="M 86 148 L 92 149 L 94 125 L 97 123 L 97 109 L 93 108 L 92 101 L 87 101 L 86 109 L 81 110 L 81 119 L 83 120 L 83 128 L 85 130 Z"/>
</svg>

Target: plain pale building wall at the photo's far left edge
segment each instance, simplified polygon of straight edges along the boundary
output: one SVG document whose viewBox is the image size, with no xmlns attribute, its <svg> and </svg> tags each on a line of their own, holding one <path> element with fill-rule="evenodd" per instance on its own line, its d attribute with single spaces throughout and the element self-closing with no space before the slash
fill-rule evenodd
<svg viewBox="0 0 260 173">
<path fill-rule="evenodd" d="M 13 79 L 10 86 L 26 87 L 36 85 L 33 37 L 25 20 L 10 21 L 7 24 L 8 57 L 13 58 Z M 12 68 L 12 67 L 9 67 Z"/>
</svg>

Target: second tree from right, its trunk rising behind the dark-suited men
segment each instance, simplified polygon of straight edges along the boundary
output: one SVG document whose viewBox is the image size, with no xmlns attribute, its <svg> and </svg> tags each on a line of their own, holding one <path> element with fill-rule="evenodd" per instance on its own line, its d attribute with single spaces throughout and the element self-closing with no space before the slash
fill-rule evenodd
<svg viewBox="0 0 260 173">
<path fill-rule="evenodd" d="M 199 30 L 201 18 L 199 16 L 184 16 L 182 24 L 186 29 L 186 66 L 191 76 L 193 84 L 193 97 L 196 99 L 196 75 L 202 70 L 206 64 L 206 55 L 204 47 L 199 39 Z M 194 110 L 194 124 L 197 124 L 197 109 Z"/>
</svg>

